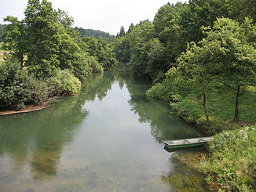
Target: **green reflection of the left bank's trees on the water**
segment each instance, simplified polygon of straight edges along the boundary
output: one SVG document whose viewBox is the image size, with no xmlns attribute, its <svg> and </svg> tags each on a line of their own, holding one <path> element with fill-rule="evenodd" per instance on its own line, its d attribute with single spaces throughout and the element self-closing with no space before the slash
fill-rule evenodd
<svg viewBox="0 0 256 192">
<path fill-rule="evenodd" d="M 114 74 L 96 75 L 79 95 L 60 98 L 44 110 L 0 117 L 0 155 L 9 154 L 13 168 L 29 162 L 36 179 L 56 175 L 64 144 L 88 114 L 82 105 L 96 96 L 102 100 L 113 81 Z"/>
</svg>

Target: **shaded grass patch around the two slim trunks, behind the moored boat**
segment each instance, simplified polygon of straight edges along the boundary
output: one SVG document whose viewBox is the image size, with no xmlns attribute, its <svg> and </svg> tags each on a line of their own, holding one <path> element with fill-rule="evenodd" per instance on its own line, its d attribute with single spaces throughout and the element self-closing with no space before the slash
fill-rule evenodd
<svg viewBox="0 0 256 192">
<path fill-rule="evenodd" d="M 256 88 L 245 87 L 240 94 L 240 122 L 232 122 L 235 113 L 236 94 L 226 92 L 207 98 L 207 112 L 210 122 L 206 121 L 203 113 L 203 101 L 195 95 L 189 95 L 179 103 L 170 103 L 170 106 L 180 118 L 190 123 L 203 125 L 209 132 L 221 132 L 223 129 L 232 129 L 234 126 L 252 125 L 256 123 Z"/>
</svg>

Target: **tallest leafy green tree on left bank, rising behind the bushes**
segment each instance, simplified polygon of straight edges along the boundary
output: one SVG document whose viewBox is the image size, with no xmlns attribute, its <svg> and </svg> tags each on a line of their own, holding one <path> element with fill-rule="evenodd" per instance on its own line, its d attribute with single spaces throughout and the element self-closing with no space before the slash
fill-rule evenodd
<svg viewBox="0 0 256 192">
<path fill-rule="evenodd" d="M 46 0 L 29 0 L 24 13 L 28 69 L 38 77 L 51 76 L 59 67 L 74 72 L 73 63 L 81 60 L 82 50 L 79 34 L 71 27 L 73 19 Z"/>
</svg>

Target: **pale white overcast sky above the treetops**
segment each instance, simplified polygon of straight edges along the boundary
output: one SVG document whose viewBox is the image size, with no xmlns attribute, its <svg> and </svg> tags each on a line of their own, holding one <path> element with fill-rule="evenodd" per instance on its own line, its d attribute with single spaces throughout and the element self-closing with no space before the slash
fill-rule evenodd
<svg viewBox="0 0 256 192">
<path fill-rule="evenodd" d="M 155 13 L 167 2 L 177 0 L 49 0 L 54 9 L 62 9 L 75 20 L 74 27 L 90 28 L 117 34 L 123 25 L 127 31 L 131 23 L 153 20 Z M 185 1 L 181 1 L 185 2 Z M 24 19 L 27 0 L 0 0 L 0 23 L 5 16 Z"/>
</svg>

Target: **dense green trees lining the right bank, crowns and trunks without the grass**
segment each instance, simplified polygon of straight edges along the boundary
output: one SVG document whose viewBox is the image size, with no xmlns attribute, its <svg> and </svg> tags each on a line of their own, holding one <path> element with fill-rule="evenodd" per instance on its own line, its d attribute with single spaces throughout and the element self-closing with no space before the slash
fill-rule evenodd
<svg viewBox="0 0 256 192">
<path fill-rule="evenodd" d="M 163 5 L 153 22 L 131 25 L 124 35 L 121 27 L 115 54 L 130 62 L 134 74 L 156 83 L 148 96 L 175 103 L 194 94 L 203 100 L 208 124 L 207 98 L 236 92 L 232 120 L 238 122 L 240 89 L 256 85 L 255 9 L 244 6 L 237 14 L 239 2 L 191 0 Z"/>
</svg>

